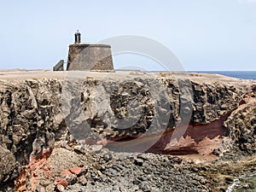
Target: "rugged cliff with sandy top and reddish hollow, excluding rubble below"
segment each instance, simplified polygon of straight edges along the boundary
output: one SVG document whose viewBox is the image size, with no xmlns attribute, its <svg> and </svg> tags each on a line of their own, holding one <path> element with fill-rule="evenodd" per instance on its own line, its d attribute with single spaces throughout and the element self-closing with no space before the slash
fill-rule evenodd
<svg viewBox="0 0 256 192">
<path fill-rule="evenodd" d="M 1 187 L 45 150 L 48 159 L 60 143 L 157 154 L 255 153 L 253 81 L 210 74 L 74 74 L 3 73 Z M 26 190 L 21 177 L 15 184 Z"/>
</svg>

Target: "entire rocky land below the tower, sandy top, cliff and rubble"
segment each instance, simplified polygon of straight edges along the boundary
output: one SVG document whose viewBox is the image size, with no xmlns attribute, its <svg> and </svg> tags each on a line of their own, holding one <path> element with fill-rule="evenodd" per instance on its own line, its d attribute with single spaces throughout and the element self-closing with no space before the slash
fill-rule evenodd
<svg viewBox="0 0 256 192">
<path fill-rule="evenodd" d="M 0 191 L 255 191 L 256 82 L 0 71 Z"/>
</svg>

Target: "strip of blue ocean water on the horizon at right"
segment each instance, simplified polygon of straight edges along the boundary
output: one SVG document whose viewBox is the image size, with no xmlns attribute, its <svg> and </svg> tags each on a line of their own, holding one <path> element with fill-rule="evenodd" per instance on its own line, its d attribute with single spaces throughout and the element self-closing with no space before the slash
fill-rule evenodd
<svg viewBox="0 0 256 192">
<path fill-rule="evenodd" d="M 232 78 L 256 80 L 256 71 L 189 71 L 189 73 L 217 73 Z"/>
</svg>

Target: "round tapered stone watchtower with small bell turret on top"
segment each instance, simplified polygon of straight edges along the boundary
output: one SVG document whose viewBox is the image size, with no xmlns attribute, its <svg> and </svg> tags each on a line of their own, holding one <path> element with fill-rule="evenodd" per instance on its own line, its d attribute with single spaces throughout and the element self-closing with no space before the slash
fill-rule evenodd
<svg viewBox="0 0 256 192">
<path fill-rule="evenodd" d="M 113 72 L 113 59 L 109 44 L 81 44 L 81 33 L 75 33 L 74 44 L 69 45 L 67 71 Z"/>
</svg>

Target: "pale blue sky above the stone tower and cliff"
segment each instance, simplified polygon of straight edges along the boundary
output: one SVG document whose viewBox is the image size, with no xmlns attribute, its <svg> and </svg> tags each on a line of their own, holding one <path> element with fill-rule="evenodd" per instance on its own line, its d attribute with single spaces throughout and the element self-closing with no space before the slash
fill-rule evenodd
<svg viewBox="0 0 256 192">
<path fill-rule="evenodd" d="M 185 70 L 256 71 L 256 0 L 9 0 L 0 3 L 0 24 L 0 68 L 52 68 L 67 60 L 79 29 L 83 42 L 152 38 Z M 118 68 L 124 59 L 114 61 Z"/>
</svg>

